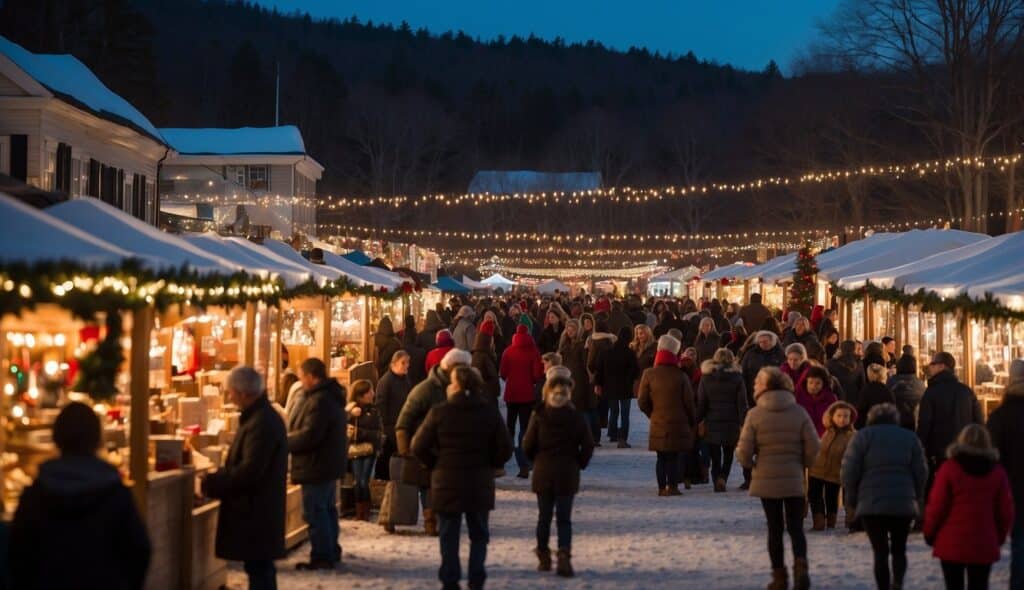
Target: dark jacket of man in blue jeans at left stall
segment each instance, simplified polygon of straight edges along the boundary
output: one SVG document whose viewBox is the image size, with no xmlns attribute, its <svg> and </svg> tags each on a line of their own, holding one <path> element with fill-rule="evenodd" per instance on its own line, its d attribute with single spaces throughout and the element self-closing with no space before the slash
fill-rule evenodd
<svg viewBox="0 0 1024 590">
<path fill-rule="evenodd" d="M 345 427 L 344 387 L 327 379 L 306 391 L 302 406 L 288 425 L 293 482 L 324 483 L 345 473 Z"/>
</svg>

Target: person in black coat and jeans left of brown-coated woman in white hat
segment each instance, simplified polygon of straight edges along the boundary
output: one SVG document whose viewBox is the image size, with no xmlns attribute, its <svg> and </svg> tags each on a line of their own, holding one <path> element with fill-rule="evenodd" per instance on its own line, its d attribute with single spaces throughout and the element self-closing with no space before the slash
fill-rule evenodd
<svg viewBox="0 0 1024 590">
<path fill-rule="evenodd" d="M 640 376 L 636 354 L 630 350 L 632 335 L 633 329 L 624 327 L 611 348 L 600 352 L 594 363 L 594 391 L 608 401 L 608 438 L 616 440 L 620 449 L 630 448 L 633 384 Z"/>
</svg>

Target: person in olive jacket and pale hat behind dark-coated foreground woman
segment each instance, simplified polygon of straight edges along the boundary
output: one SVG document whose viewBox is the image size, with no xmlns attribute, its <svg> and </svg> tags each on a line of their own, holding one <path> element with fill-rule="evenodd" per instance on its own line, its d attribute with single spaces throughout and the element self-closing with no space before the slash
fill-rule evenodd
<svg viewBox="0 0 1024 590">
<path fill-rule="evenodd" d="M 407 457 L 402 462 L 401 480 L 420 489 L 420 504 L 423 506 L 423 531 L 430 536 L 437 535 L 437 518 L 430 507 L 430 469 L 413 456 L 412 440 L 431 409 L 444 404 L 447 399 L 447 386 L 451 384 L 449 375 L 457 367 L 469 367 L 472 355 L 459 348 L 449 350 L 440 363 L 433 367 L 427 378 L 418 383 L 410 391 L 398 420 L 394 425 L 394 438 L 398 447 L 398 455 Z"/>
</svg>

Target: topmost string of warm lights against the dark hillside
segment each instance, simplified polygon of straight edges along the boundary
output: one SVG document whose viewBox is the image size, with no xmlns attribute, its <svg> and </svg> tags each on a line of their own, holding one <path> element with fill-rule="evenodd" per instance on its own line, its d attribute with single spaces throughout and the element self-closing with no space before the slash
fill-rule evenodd
<svg viewBox="0 0 1024 590">
<path fill-rule="evenodd" d="M 548 206 L 551 204 L 581 205 L 610 201 L 613 203 L 645 203 L 682 197 L 701 197 L 724 193 L 748 193 L 778 186 L 839 182 L 853 178 L 891 177 L 894 179 L 922 178 L 932 174 L 948 172 L 962 167 L 987 168 L 1005 172 L 1020 164 L 1022 154 L 988 157 L 955 157 L 923 160 L 902 164 L 861 166 L 850 169 L 809 171 L 797 176 L 764 176 L 739 182 L 708 182 L 690 185 L 668 185 L 659 187 L 620 186 L 572 192 L 542 193 L 463 193 L 431 195 L 396 195 L 375 197 L 327 196 L 316 199 L 309 197 L 282 197 L 280 195 L 254 196 L 251 194 L 202 194 L 176 196 L 186 202 L 213 204 L 256 203 L 260 205 L 312 205 L 332 211 L 353 208 L 420 207 L 425 205 L 481 206 L 495 203 L 515 202 L 516 204 Z"/>
</svg>

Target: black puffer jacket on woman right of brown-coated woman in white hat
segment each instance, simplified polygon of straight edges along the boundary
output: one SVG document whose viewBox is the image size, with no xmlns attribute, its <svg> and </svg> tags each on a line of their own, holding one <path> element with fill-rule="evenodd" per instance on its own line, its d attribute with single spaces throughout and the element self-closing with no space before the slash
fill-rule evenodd
<svg viewBox="0 0 1024 590">
<path fill-rule="evenodd" d="M 738 367 L 714 361 L 700 365 L 697 385 L 697 421 L 707 428 L 705 440 L 711 445 L 734 447 L 746 419 L 746 386 Z"/>
</svg>

